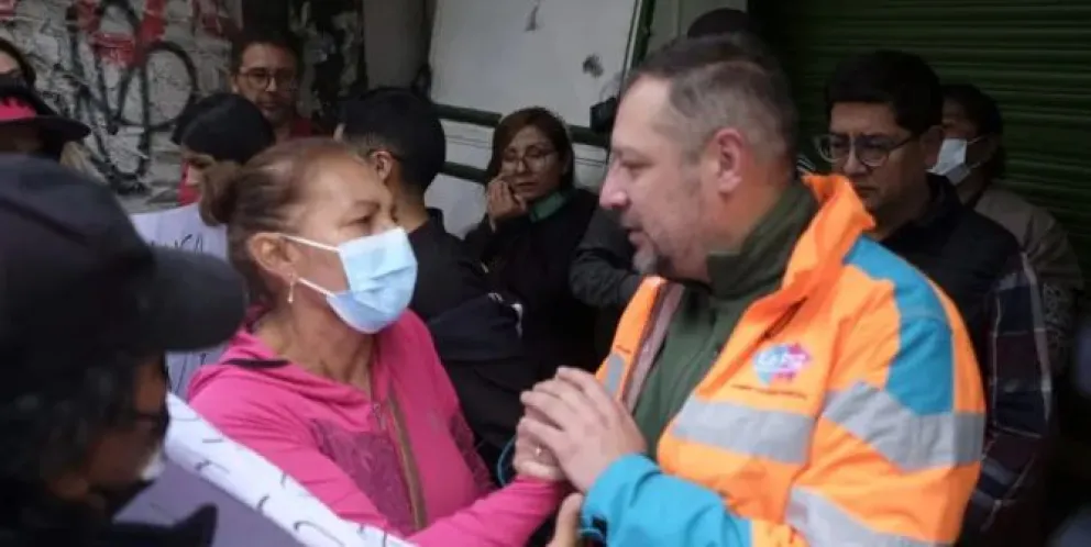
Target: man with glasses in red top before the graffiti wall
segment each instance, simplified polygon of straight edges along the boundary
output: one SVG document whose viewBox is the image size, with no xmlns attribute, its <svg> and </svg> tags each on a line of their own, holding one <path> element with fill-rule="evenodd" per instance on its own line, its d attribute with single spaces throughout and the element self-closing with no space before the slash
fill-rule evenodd
<svg viewBox="0 0 1091 547">
<path fill-rule="evenodd" d="M 299 55 L 293 37 L 253 27 L 231 46 L 231 90 L 250 99 L 273 124 L 277 141 L 310 136 L 310 122 L 296 112 Z"/>
</svg>

